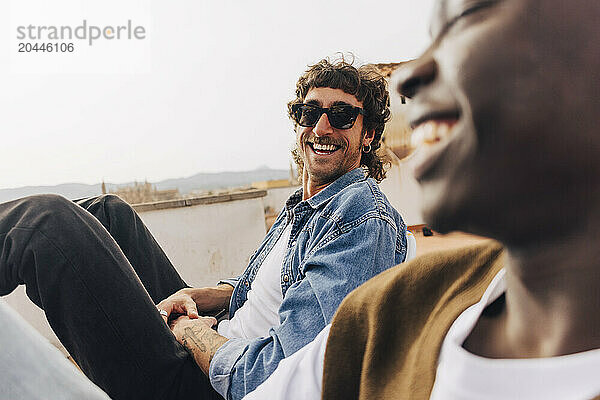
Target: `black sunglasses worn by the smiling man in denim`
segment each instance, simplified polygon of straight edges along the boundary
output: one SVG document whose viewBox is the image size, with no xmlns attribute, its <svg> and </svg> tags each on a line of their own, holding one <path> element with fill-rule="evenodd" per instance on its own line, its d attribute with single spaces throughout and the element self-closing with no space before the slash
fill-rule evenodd
<svg viewBox="0 0 600 400">
<path fill-rule="evenodd" d="M 292 105 L 292 116 L 300 126 L 315 126 L 323 113 L 327 114 L 329 123 L 336 129 L 350 129 L 356 122 L 358 114 L 366 115 L 365 110 L 350 104 L 340 104 L 329 108 L 305 103 Z"/>
</svg>

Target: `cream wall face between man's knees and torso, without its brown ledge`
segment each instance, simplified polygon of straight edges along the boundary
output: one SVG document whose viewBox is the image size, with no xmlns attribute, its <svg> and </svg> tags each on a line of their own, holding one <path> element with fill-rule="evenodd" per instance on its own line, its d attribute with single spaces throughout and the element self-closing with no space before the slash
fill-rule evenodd
<svg viewBox="0 0 600 400">
<path fill-rule="evenodd" d="M 262 198 L 139 215 L 190 286 L 239 275 L 266 233 Z"/>
</svg>

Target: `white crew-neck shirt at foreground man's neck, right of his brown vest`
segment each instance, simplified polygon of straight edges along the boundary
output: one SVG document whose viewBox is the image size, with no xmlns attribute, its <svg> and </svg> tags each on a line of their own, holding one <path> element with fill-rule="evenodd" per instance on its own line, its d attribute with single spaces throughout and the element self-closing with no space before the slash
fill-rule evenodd
<svg viewBox="0 0 600 400">
<path fill-rule="evenodd" d="M 560 357 L 491 359 L 462 347 L 485 307 L 506 291 L 500 271 L 442 344 L 431 400 L 570 400 L 600 395 L 600 349 Z"/>
</svg>

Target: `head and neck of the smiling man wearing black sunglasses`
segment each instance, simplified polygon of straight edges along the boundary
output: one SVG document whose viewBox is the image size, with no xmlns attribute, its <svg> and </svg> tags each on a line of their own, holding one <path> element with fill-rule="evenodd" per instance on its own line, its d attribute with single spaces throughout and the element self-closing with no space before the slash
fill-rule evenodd
<svg viewBox="0 0 600 400">
<path fill-rule="evenodd" d="M 300 78 L 288 111 L 296 123 L 304 198 L 361 166 L 377 181 L 385 177 L 377 149 L 388 103 L 385 81 L 372 67 L 323 60 Z"/>
</svg>

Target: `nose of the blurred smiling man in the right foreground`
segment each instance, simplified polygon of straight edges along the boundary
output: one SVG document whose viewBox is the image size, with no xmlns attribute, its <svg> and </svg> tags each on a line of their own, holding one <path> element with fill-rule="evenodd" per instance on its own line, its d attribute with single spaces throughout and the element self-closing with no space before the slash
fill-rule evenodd
<svg viewBox="0 0 600 400">
<path fill-rule="evenodd" d="M 431 50 L 416 60 L 401 65 L 392 77 L 392 87 L 402 96 L 414 97 L 419 90 L 431 83 L 437 76 L 438 68 Z"/>
</svg>

